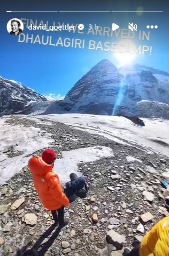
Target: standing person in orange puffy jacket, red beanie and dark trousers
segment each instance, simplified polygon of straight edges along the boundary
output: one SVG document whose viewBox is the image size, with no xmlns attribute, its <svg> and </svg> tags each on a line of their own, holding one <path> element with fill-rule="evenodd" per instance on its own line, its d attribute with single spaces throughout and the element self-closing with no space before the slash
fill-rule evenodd
<svg viewBox="0 0 169 256">
<path fill-rule="evenodd" d="M 62 191 L 58 175 L 53 172 L 55 160 L 56 153 L 47 149 L 42 153 L 42 158 L 29 159 L 28 167 L 43 207 L 51 210 L 56 224 L 66 225 L 68 220 L 64 219 L 64 207 L 68 207 L 70 202 Z"/>
</svg>

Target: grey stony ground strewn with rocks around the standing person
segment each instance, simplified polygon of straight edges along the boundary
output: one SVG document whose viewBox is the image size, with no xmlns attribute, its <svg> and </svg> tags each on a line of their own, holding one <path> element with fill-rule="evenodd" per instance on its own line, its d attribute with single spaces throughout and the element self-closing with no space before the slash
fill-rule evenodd
<svg viewBox="0 0 169 256">
<path fill-rule="evenodd" d="M 169 168 L 166 157 L 62 123 L 51 121 L 49 126 L 17 116 L 6 122 L 51 133 L 55 140 L 51 148 L 58 158 L 62 158 L 62 151 L 89 146 L 106 146 L 114 152 L 110 158 L 80 163 L 80 172 L 90 181 L 88 198 L 78 199 L 65 209 L 70 223 L 45 256 L 120 256 L 122 248 L 132 248 L 153 224 L 168 215 L 162 200 L 164 188 L 160 186 L 163 172 Z M 9 157 L 21 153 L 11 150 Z M 41 206 L 27 167 L 0 187 L 0 195 L 0 254 L 16 255 L 22 246 L 29 243 L 28 248 L 32 247 L 53 223 L 52 216 Z"/>
</svg>

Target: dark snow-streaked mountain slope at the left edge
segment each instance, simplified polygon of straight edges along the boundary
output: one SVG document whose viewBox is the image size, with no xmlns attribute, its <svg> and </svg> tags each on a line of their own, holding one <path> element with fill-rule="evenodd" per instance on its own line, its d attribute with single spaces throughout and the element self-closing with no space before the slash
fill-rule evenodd
<svg viewBox="0 0 169 256">
<path fill-rule="evenodd" d="M 23 111 L 32 102 L 44 102 L 48 99 L 21 83 L 0 77 L 0 116 Z"/>
</svg>

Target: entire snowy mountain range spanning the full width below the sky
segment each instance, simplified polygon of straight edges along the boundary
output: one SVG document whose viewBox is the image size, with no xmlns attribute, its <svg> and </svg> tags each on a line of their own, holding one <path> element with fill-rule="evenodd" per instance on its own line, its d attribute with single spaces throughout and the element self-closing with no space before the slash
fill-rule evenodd
<svg viewBox="0 0 169 256">
<path fill-rule="evenodd" d="M 169 74 L 143 65 L 117 69 L 109 60 L 102 60 L 60 101 L 49 101 L 18 82 L 0 77 L 0 116 L 132 112 L 142 117 L 168 118 L 168 105 Z"/>
</svg>

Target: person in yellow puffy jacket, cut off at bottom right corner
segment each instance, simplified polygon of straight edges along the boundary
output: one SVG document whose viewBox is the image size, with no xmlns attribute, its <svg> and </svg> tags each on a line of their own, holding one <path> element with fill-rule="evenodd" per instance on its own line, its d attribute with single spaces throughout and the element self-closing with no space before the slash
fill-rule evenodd
<svg viewBox="0 0 169 256">
<path fill-rule="evenodd" d="M 132 251 L 124 256 L 169 256 L 169 216 L 161 219 Z"/>
</svg>

